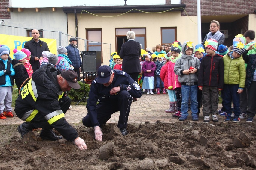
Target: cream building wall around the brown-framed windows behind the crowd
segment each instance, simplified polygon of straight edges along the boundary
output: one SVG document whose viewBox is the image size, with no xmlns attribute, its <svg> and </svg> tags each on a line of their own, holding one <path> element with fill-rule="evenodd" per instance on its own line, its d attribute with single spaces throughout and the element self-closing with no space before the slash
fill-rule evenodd
<svg viewBox="0 0 256 170">
<path fill-rule="evenodd" d="M 98 13 L 78 14 L 78 37 L 86 39 L 86 29 L 101 28 L 102 42 L 111 44 L 111 52 L 116 51 L 115 28 L 146 28 L 146 47 L 161 43 L 161 27 L 177 27 L 177 40 L 183 43 L 190 40 L 197 44 L 197 16 L 180 16 L 180 12 L 149 13 Z M 115 17 L 100 17 L 115 16 Z M 68 34 L 75 36 L 75 16 L 68 14 Z M 152 51 L 152 50 L 151 50 Z M 110 52 L 110 53 L 111 53 Z M 108 65 L 110 53 L 103 51 L 103 64 Z"/>
</svg>

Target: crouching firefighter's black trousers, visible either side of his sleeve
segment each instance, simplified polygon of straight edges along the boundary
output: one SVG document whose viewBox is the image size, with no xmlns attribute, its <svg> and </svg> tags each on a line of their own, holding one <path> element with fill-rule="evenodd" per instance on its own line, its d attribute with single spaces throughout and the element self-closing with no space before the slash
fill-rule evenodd
<svg viewBox="0 0 256 170">
<path fill-rule="evenodd" d="M 59 104 L 61 107 L 61 110 L 65 114 L 69 106 L 71 104 L 71 99 L 68 96 L 65 96 L 65 93 L 63 97 L 59 100 Z M 42 116 L 40 113 L 37 114 L 34 119 L 32 119 L 31 124 L 34 126 L 34 128 L 46 128 L 46 129 L 52 129 L 53 127 L 47 122 L 47 120 Z"/>
</svg>

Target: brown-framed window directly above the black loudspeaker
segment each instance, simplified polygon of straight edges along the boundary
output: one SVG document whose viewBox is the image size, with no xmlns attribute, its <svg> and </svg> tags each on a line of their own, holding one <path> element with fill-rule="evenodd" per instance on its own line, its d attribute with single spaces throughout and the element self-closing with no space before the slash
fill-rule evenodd
<svg viewBox="0 0 256 170">
<path fill-rule="evenodd" d="M 101 29 L 87 29 L 86 30 L 87 39 L 87 51 L 101 51 L 101 61 L 102 59 L 102 30 Z"/>
</svg>

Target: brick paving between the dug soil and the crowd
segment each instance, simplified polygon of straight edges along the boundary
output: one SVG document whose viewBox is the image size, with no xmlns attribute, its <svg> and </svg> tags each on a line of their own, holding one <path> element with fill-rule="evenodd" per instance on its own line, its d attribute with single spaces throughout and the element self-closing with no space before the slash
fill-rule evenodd
<svg viewBox="0 0 256 170">
<path fill-rule="evenodd" d="M 219 104 L 219 107 L 221 107 L 221 104 Z M 181 123 L 182 121 L 179 121 L 177 118 L 172 117 L 173 113 L 164 112 L 164 110 L 168 108 L 169 108 L 168 94 L 165 94 L 165 95 L 143 94 L 141 98 L 138 98 L 138 101 L 132 102 L 128 123 L 145 123 L 146 121 L 150 123 L 155 123 L 157 120 L 160 120 L 163 123 L 175 123 L 175 122 Z M 0 119 L 0 125 L 19 125 L 22 122 L 24 122 L 16 116 L 14 111 L 13 113 L 14 113 L 13 118 Z M 187 120 L 192 122 L 191 112 L 189 113 L 190 114 Z M 87 109 L 85 106 L 72 106 L 72 108 L 68 110 L 67 113 L 65 114 L 65 118 L 71 124 L 81 123 L 82 118 L 86 116 L 86 114 L 87 114 Z M 114 113 L 111 119 L 108 120 L 107 123 L 117 123 L 118 117 L 119 117 L 119 112 Z M 219 122 L 224 122 L 224 118 L 225 118 L 224 116 L 218 116 L 218 118 L 219 118 Z M 202 112 L 199 114 L 198 122 L 203 122 Z M 245 119 L 241 120 L 240 122 L 245 122 Z"/>
</svg>

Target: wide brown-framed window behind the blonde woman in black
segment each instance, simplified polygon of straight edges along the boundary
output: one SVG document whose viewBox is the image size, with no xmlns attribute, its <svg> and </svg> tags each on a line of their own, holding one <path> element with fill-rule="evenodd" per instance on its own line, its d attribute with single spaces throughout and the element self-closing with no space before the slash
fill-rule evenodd
<svg viewBox="0 0 256 170">
<path fill-rule="evenodd" d="M 142 49 L 146 49 L 146 28 L 116 28 L 116 50 L 117 54 L 121 51 L 122 44 L 127 42 L 126 34 L 134 31 L 135 41 L 139 42 Z"/>
</svg>

